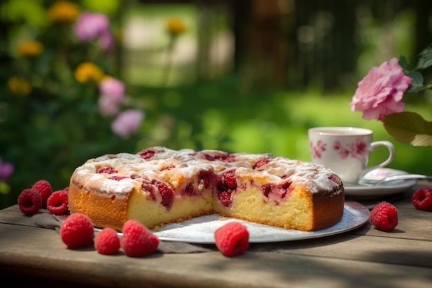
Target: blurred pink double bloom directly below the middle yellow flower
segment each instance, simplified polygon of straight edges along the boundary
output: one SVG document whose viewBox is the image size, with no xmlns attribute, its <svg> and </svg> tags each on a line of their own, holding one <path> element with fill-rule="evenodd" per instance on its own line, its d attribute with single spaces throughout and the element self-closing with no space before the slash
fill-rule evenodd
<svg viewBox="0 0 432 288">
<path fill-rule="evenodd" d="M 99 112 L 104 116 L 115 115 L 124 100 L 124 83 L 112 77 L 104 78 L 99 82 L 99 92 Z"/>
</svg>

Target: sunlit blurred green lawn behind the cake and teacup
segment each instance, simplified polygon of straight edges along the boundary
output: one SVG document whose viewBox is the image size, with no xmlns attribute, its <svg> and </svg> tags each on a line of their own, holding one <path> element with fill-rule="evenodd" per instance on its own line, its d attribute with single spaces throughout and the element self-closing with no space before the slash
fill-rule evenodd
<svg viewBox="0 0 432 288">
<path fill-rule="evenodd" d="M 318 90 L 244 93 L 223 83 L 144 93 L 153 97 L 155 112 L 150 111 L 146 124 L 149 135 L 143 137 L 138 146 L 161 144 L 170 148 L 270 152 L 311 161 L 308 128 L 357 126 L 373 130 L 375 141 L 393 142 L 396 156 L 391 168 L 432 174 L 432 148 L 396 142 L 381 122 L 366 121 L 361 113 L 351 112 L 348 104 L 354 90 L 333 95 L 323 95 Z M 169 99 L 175 100 L 170 102 Z M 411 104 L 407 110 L 418 111 L 432 119 L 428 106 Z M 369 164 L 378 164 L 386 157 L 386 148 L 378 147 Z"/>
</svg>

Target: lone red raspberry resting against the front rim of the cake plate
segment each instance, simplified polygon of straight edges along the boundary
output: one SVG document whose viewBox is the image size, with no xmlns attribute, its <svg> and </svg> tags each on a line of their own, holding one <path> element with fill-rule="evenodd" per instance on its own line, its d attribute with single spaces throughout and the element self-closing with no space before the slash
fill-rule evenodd
<svg viewBox="0 0 432 288">
<path fill-rule="evenodd" d="M 249 247 L 249 232 L 242 223 L 229 222 L 215 231 L 216 247 L 226 257 L 244 253 Z"/>
</svg>

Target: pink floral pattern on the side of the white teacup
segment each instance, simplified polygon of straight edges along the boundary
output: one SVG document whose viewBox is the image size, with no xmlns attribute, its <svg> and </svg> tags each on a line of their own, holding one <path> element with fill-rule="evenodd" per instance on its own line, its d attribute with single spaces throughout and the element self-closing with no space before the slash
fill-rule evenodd
<svg viewBox="0 0 432 288">
<path fill-rule="evenodd" d="M 321 159 L 322 153 L 326 151 L 327 144 L 322 140 L 318 140 L 316 145 L 314 145 L 313 142 L 310 142 L 309 145 L 311 146 L 311 156 L 313 158 Z M 346 159 L 346 157 L 361 159 L 367 151 L 367 144 L 362 140 L 362 138 L 357 138 L 355 142 L 344 145 L 342 145 L 340 141 L 335 141 L 333 142 L 332 148 L 334 151 L 337 151 L 342 159 Z"/>
</svg>

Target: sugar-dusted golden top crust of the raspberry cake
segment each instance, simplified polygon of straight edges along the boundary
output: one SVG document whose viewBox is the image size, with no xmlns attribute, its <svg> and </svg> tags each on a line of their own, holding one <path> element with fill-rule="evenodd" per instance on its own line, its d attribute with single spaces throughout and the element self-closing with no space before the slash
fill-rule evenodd
<svg viewBox="0 0 432 288">
<path fill-rule="evenodd" d="M 283 156 L 275 157 L 270 153 L 228 154 L 217 150 L 195 152 L 191 149 L 175 151 L 159 146 L 146 150 L 154 151 L 148 159 L 144 159 L 140 153 L 118 153 L 88 160 L 77 169 L 77 177 L 81 178 L 79 182 L 86 182 L 90 189 L 98 189 L 105 193 L 129 193 L 139 185 L 135 178 L 141 175 L 168 180 L 169 174 L 173 173 L 167 173 L 167 171 L 173 168 L 178 175 L 185 178 L 193 177 L 198 171 L 221 173 L 226 169 L 236 168 L 236 174 L 239 177 L 242 175 L 257 178 L 268 177 L 272 178 L 272 182 L 289 180 L 292 185 L 306 186 L 311 193 L 335 191 L 335 187 L 340 184 L 331 180 L 329 176 L 334 173 L 325 166 L 290 160 Z M 266 164 L 254 168 L 260 161 Z M 117 173 L 129 178 L 121 181 L 110 180 L 109 174 L 97 173 L 97 169 L 101 167 L 113 167 Z M 170 178 L 173 180 L 173 177 Z"/>
</svg>

